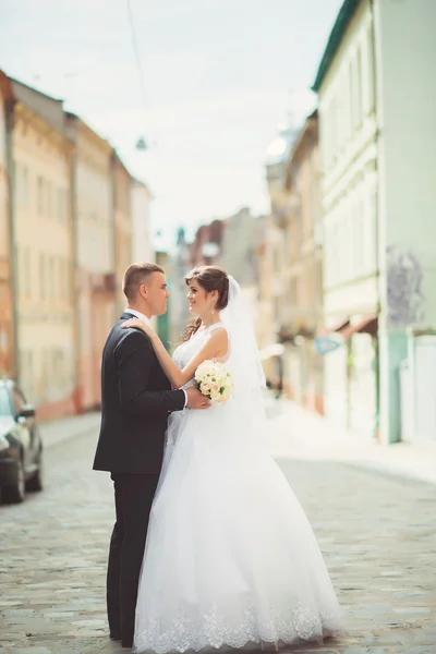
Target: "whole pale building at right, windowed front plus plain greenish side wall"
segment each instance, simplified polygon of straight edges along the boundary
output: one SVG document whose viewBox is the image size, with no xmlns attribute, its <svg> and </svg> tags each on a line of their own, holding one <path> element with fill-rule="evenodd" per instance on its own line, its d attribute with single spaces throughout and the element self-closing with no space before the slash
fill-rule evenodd
<svg viewBox="0 0 436 654">
<path fill-rule="evenodd" d="M 384 443 L 401 436 L 408 329 L 436 320 L 435 20 L 426 0 L 346 0 L 314 84 L 325 319 L 343 343 L 325 358 L 326 412 Z"/>
</svg>

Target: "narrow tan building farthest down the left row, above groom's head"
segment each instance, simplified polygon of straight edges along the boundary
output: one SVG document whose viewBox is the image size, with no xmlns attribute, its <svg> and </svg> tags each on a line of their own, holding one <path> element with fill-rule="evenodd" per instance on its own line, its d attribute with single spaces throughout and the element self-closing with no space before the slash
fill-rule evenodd
<svg viewBox="0 0 436 654">
<path fill-rule="evenodd" d="M 132 263 L 132 177 L 116 152 L 112 153 L 113 229 L 116 312 L 120 316 L 125 307 L 122 280 L 126 267 Z"/>
</svg>

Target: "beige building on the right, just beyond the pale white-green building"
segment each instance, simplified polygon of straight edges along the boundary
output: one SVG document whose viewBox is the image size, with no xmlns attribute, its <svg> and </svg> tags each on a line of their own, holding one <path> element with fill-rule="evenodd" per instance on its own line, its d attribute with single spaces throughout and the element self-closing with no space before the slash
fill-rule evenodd
<svg viewBox="0 0 436 654">
<path fill-rule="evenodd" d="M 264 368 L 274 388 L 323 412 L 323 252 L 318 117 L 281 130 L 268 149 L 270 214 L 257 247 Z"/>
</svg>

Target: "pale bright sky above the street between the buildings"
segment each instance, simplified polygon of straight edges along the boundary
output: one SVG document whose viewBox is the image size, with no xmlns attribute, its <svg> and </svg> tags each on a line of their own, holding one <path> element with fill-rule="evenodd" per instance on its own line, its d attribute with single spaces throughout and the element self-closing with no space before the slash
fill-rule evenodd
<svg viewBox="0 0 436 654">
<path fill-rule="evenodd" d="M 192 238 L 242 206 L 268 210 L 268 145 L 314 108 L 341 4 L 0 0 L 0 69 L 64 99 L 117 147 L 149 185 L 153 230 L 170 243 L 180 226 Z"/>
</svg>

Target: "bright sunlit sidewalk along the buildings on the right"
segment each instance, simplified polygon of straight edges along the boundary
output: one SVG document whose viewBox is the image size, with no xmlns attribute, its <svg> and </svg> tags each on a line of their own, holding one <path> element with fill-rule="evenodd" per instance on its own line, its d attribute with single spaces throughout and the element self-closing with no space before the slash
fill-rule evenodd
<svg viewBox="0 0 436 654">
<path fill-rule="evenodd" d="M 274 414 L 272 414 L 274 412 Z M 276 458 L 347 461 L 388 474 L 436 484 L 436 443 L 364 441 L 294 402 L 268 405 L 271 450 Z"/>
</svg>

